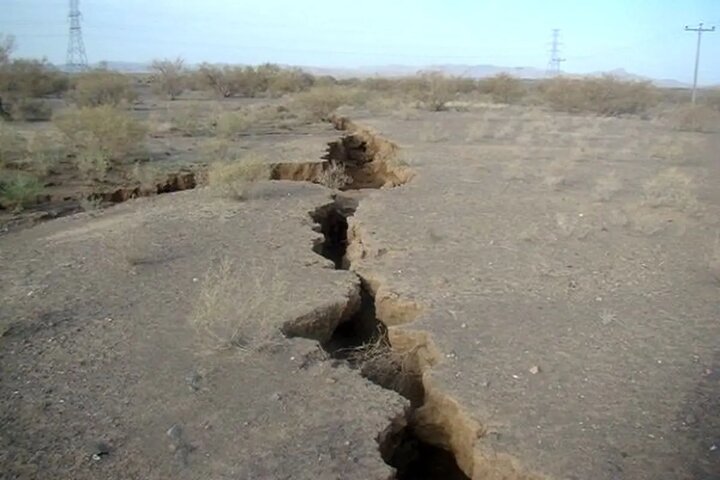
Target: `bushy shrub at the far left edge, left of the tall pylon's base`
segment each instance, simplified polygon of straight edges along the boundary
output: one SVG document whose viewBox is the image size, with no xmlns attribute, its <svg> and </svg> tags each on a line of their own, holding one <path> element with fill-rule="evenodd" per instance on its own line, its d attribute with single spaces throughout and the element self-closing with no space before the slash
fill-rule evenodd
<svg viewBox="0 0 720 480">
<path fill-rule="evenodd" d="M 68 88 L 65 74 L 46 60 L 15 59 L 0 64 L 0 92 L 10 98 L 57 95 Z"/>
</svg>

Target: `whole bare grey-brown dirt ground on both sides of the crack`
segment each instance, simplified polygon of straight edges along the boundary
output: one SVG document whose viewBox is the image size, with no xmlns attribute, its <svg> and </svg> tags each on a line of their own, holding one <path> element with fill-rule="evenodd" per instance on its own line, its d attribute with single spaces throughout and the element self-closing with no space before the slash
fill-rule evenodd
<svg viewBox="0 0 720 480">
<path fill-rule="evenodd" d="M 717 478 L 716 134 L 343 113 L 375 132 L 355 186 L 386 188 L 178 192 L 0 238 L 6 478 Z M 330 358 L 366 317 L 387 388 Z"/>
</svg>

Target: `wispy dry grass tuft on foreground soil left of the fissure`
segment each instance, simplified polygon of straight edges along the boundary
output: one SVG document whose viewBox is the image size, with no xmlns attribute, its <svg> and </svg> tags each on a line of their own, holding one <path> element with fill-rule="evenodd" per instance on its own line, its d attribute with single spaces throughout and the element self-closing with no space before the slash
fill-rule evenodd
<svg viewBox="0 0 720 480">
<path fill-rule="evenodd" d="M 204 349 L 258 351 L 280 339 L 274 312 L 286 294 L 276 271 L 241 278 L 237 266 L 224 258 L 201 279 L 189 321 Z"/>
</svg>

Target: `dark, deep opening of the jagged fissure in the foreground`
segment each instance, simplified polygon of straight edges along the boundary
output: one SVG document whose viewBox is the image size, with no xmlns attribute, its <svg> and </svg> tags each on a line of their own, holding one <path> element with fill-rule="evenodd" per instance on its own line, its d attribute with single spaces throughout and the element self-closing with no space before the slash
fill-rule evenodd
<svg viewBox="0 0 720 480">
<path fill-rule="evenodd" d="M 312 212 L 323 234 L 315 251 L 331 260 L 336 269 L 348 270 L 348 217 L 355 213 L 355 198 L 336 195 L 333 203 Z M 383 460 L 396 470 L 397 480 L 464 480 L 469 477 L 458 467 L 455 455 L 421 439 L 415 430 L 415 412 L 425 402 L 421 372 L 406 365 L 388 339 L 387 327 L 377 318 L 375 298 L 360 277 L 361 303 L 358 311 L 340 324 L 323 348 L 329 355 L 382 388 L 393 390 L 410 402 L 404 418 L 396 419 L 378 436 Z"/>
</svg>

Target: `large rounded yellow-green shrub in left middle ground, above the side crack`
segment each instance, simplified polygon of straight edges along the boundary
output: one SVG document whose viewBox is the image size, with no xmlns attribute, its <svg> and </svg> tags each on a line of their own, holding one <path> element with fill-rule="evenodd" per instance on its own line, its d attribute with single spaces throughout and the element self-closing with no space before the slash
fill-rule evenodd
<svg viewBox="0 0 720 480">
<path fill-rule="evenodd" d="M 108 161 L 122 160 L 136 151 L 146 134 L 142 123 L 110 105 L 69 110 L 53 123 L 71 149 L 88 155 L 98 153 Z"/>
</svg>

